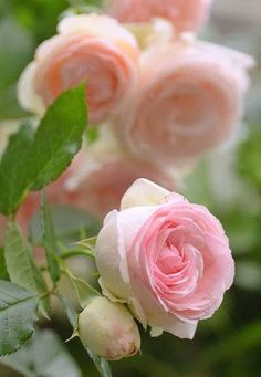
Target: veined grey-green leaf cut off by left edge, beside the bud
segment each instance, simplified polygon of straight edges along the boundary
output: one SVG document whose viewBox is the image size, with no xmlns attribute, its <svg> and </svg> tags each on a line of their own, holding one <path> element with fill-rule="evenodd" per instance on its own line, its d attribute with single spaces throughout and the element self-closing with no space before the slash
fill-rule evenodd
<svg viewBox="0 0 261 377">
<path fill-rule="evenodd" d="M 14 353 L 32 336 L 38 303 L 31 292 L 0 281 L 0 355 Z"/>
</svg>

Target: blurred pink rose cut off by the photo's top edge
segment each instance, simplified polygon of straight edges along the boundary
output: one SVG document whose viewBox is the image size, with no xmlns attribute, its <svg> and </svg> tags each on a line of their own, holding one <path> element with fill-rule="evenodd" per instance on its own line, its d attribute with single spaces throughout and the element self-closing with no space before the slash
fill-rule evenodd
<svg viewBox="0 0 261 377">
<path fill-rule="evenodd" d="M 208 18 L 211 0 L 107 0 L 107 12 L 122 22 L 146 22 L 160 17 L 178 32 L 198 30 Z"/>
</svg>

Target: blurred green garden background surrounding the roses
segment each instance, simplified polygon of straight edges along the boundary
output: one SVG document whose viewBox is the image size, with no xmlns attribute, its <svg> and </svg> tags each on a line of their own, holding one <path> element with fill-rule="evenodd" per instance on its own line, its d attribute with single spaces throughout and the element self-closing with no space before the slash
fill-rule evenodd
<svg viewBox="0 0 261 377">
<path fill-rule="evenodd" d="M 61 12 L 86 4 L 98 4 L 98 0 L 0 1 L 0 122 L 24 115 L 15 100 L 17 80 L 39 43 L 55 33 Z M 145 335 L 144 355 L 113 364 L 115 376 L 261 376 L 260 24 L 260 0 L 216 0 L 202 38 L 248 52 L 258 64 L 252 72 L 244 124 L 226 145 L 206 156 L 184 185 L 190 200 L 207 205 L 221 220 L 237 261 L 236 284 L 218 313 L 200 323 L 192 342 L 168 334 L 156 339 Z M 71 227 L 72 221 L 67 223 Z M 53 327 L 63 339 L 70 336 L 70 328 L 59 316 L 44 326 Z M 65 347 L 83 376 L 96 376 L 79 342 Z M 52 365 L 53 374 L 45 370 L 41 376 L 77 376 L 61 360 Z M 0 370 L 0 375 L 14 376 L 11 369 Z"/>
</svg>

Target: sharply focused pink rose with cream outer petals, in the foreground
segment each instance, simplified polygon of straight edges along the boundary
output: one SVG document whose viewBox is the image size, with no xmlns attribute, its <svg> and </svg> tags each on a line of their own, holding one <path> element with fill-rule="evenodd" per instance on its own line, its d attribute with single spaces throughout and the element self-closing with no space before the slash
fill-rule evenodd
<svg viewBox="0 0 261 377">
<path fill-rule="evenodd" d="M 220 222 L 146 179 L 124 195 L 97 237 L 96 263 L 104 294 L 127 303 L 135 316 L 180 338 L 220 306 L 234 262 Z"/>
</svg>

